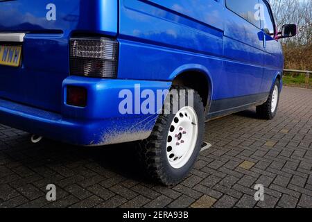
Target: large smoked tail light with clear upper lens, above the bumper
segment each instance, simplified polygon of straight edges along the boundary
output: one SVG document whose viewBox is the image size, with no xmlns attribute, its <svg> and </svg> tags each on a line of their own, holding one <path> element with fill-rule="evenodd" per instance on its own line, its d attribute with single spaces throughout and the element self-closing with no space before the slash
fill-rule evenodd
<svg viewBox="0 0 312 222">
<path fill-rule="evenodd" d="M 71 75 L 116 78 L 118 42 L 106 37 L 71 39 Z"/>
</svg>

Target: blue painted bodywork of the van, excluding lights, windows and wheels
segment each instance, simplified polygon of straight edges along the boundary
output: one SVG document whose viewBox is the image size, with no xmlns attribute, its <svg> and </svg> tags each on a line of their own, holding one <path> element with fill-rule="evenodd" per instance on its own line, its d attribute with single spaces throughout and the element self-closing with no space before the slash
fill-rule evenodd
<svg viewBox="0 0 312 222">
<path fill-rule="evenodd" d="M 48 3 L 56 21 L 46 21 Z M 284 65 L 263 24 L 235 15 L 225 0 L 19 0 L 0 2 L 0 10 L 0 32 L 26 32 L 22 67 L 0 67 L 0 122 L 72 144 L 150 133 L 157 116 L 119 114 L 120 89 L 169 89 L 196 71 L 207 77 L 209 101 L 219 101 L 268 93 Z M 119 41 L 118 79 L 69 76 L 75 33 Z M 65 104 L 67 85 L 87 88 L 86 108 Z M 125 133 L 136 136 L 121 141 Z"/>
</svg>

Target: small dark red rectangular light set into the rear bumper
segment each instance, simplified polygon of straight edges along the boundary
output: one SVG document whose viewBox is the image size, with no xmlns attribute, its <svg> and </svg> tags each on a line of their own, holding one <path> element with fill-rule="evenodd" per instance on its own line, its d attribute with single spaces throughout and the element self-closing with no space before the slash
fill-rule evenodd
<svg viewBox="0 0 312 222">
<path fill-rule="evenodd" d="M 87 89 L 83 87 L 67 86 L 67 99 L 68 105 L 79 107 L 87 106 Z"/>
</svg>

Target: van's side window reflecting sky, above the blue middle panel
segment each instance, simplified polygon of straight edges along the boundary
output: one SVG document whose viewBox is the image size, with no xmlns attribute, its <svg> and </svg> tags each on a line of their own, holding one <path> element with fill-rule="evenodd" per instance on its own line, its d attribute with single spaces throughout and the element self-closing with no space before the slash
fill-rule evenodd
<svg viewBox="0 0 312 222">
<path fill-rule="evenodd" d="M 232 12 L 260 28 L 260 20 L 257 17 L 257 13 L 259 15 L 258 0 L 226 0 L 225 2 L 229 10 L 232 10 Z"/>
</svg>

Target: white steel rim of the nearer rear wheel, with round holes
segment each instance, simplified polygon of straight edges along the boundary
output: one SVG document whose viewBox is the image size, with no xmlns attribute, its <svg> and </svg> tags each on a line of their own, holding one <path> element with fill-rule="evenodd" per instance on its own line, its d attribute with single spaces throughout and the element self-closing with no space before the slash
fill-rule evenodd
<svg viewBox="0 0 312 222">
<path fill-rule="evenodd" d="M 180 169 L 193 154 L 198 138 L 198 117 L 189 106 L 177 112 L 169 129 L 166 153 L 171 167 Z"/>
</svg>

